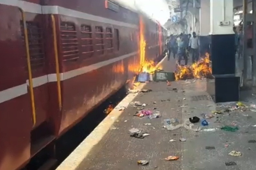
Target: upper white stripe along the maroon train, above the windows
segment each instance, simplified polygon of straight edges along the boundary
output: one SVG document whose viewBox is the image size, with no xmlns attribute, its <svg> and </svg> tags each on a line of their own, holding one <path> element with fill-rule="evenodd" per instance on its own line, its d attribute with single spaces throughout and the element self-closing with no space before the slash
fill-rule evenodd
<svg viewBox="0 0 256 170">
<path fill-rule="evenodd" d="M 65 15 L 69 17 L 81 18 L 91 21 L 97 21 L 112 25 L 118 25 L 122 27 L 131 27 L 131 28 L 138 28 L 135 24 L 128 24 L 121 21 L 115 21 L 104 17 L 99 17 L 96 15 L 87 14 L 84 12 L 63 8 L 60 6 L 41 6 L 39 4 L 21 1 L 21 0 L 0 0 L 0 4 L 3 5 L 10 5 L 21 8 L 25 12 L 36 13 L 36 14 L 59 14 Z"/>
</svg>

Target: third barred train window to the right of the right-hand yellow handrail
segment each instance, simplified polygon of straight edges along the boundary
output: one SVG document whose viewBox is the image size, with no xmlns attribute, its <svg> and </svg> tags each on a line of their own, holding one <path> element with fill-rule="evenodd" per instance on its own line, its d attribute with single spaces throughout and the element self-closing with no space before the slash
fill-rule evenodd
<svg viewBox="0 0 256 170">
<path fill-rule="evenodd" d="M 104 37 L 103 28 L 100 26 L 95 27 L 95 39 L 96 39 L 96 52 L 101 55 L 104 54 Z"/>
</svg>

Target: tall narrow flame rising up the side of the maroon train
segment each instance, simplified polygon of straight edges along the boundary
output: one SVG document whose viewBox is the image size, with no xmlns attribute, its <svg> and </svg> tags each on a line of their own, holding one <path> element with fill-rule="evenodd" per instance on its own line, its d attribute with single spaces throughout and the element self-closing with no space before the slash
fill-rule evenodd
<svg viewBox="0 0 256 170">
<path fill-rule="evenodd" d="M 145 48 L 146 48 L 146 40 L 144 37 L 144 23 L 143 18 L 140 17 L 140 72 L 152 73 L 156 69 L 160 69 L 156 67 L 156 63 L 153 60 L 146 60 L 145 56 Z"/>
</svg>

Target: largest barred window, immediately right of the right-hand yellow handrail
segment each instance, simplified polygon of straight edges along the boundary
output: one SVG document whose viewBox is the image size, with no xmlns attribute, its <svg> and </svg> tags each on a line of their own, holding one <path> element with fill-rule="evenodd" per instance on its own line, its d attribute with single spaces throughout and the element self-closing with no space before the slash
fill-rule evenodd
<svg viewBox="0 0 256 170">
<path fill-rule="evenodd" d="M 75 24 L 62 22 L 60 24 L 60 36 L 63 61 L 77 61 L 79 51 Z"/>
</svg>

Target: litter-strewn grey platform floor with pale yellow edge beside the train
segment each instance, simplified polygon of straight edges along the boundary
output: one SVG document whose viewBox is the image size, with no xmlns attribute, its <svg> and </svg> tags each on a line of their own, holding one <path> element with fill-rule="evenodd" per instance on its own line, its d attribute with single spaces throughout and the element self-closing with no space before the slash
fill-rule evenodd
<svg viewBox="0 0 256 170">
<path fill-rule="evenodd" d="M 165 58 L 163 69 L 174 71 L 173 63 L 174 59 Z M 256 169 L 256 116 L 250 108 L 254 107 L 250 104 L 256 104 L 255 96 L 242 93 L 241 102 L 248 107 L 216 104 L 206 92 L 204 79 L 175 81 L 171 85 L 141 83 L 137 89 L 152 91 L 129 93 L 57 170 Z M 141 109 L 135 101 L 146 104 L 143 110 L 160 113 L 161 117 L 134 116 Z M 200 121 L 190 123 L 189 118 L 195 116 Z M 203 119 L 207 126 L 201 125 Z M 169 121 L 175 123 L 169 126 Z M 237 128 L 230 131 L 230 127 Z M 132 128 L 149 135 L 132 137 Z M 238 154 L 232 156 L 232 151 Z M 168 156 L 179 159 L 165 160 Z M 149 163 L 138 165 L 138 160 Z"/>
</svg>

